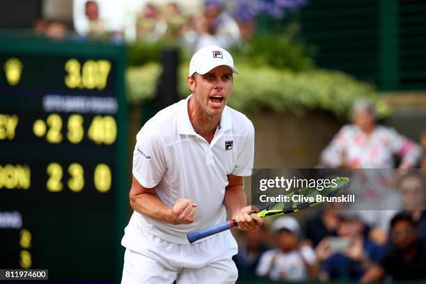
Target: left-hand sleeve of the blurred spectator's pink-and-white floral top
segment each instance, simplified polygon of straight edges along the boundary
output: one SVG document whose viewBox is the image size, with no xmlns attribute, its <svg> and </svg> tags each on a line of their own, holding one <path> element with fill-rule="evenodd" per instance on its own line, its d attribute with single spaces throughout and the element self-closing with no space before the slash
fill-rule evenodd
<svg viewBox="0 0 426 284">
<path fill-rule="evenodd" d="M 342 127 L 338 134 L 321 153 L 321 163 L 328 168 L 338 168 L 342 164 L 342 156 L 345 152 L 348 127 Z"/>
</svg>

